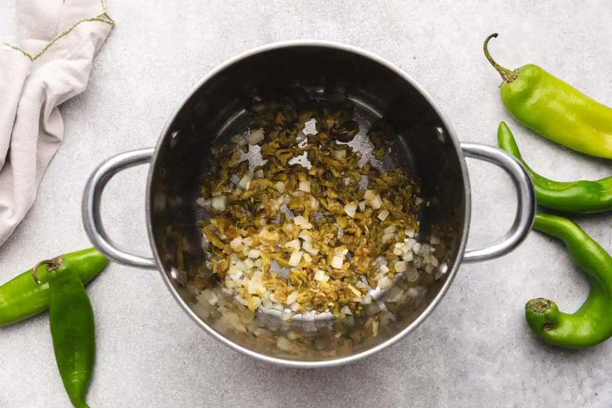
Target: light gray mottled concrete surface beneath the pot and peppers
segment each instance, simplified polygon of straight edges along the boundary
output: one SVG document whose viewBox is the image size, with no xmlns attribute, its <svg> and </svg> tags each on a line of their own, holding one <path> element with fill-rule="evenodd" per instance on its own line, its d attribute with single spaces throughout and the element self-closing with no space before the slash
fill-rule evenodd
<svg viewBox="0 0 612 408">
<path fill-rule="evenodd" d="M 15 1 L 0 5 L 0 39 L 15 38 Z M 482 40 L 508 67 L 528 62 L 612 104 L 612 7 L 606 0 L 116 1 L 117 26 L 87 91 L 65 103 L 67 138 L 37 201 L 0 248 L 0 281 L 42 258 L 88 245 L 81 190 L 104 158 L 152 146 L 198 78 L 228 57 L 275 40 L 348 42 L 400 65 L 433 95 L 463 141 L 494 144 L 498 122 L 515 131 L 532 167 L 561 180 L 599 179 L 612 165 L 571 154 L 510 119 Z M 1 95 L 0 95 L 1 97 Z M 146 167 L 122 173 L 104 198 L 112 236 L 146 254 Z M 510 182 L 469 160 L 471 247 L 498 237 L 515 210 Z M 612 250 L 612 215 L 581 217 Z M 524 324 L 531 297 L 575 310 L 588 285 L 561 244 L 531 234 L 504 258 L 461 267 L 449 294 L 416 332 L 343 368 L 297 371 L 236 354 L 196 327 L 157 272 L 111 265 L 89 287 L 98 360 L 92 407 L 610 407 L 612 342 L 564 351 Z M 68 407 L 47 316 L 0 329 L 0 406 Z"/>
</svg>

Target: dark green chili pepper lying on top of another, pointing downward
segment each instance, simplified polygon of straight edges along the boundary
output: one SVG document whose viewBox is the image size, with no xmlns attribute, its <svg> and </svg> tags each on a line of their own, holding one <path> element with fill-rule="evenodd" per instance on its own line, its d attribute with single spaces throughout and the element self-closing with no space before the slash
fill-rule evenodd
<svg viewBox="0 0 612 408">
<path fill-rule="evenodd" d="M 59 375 L 72 405 L 86 408 L 95 363 L 94 311 L 73 262 L 60 257 L 42 263 L 49 267 L 49 327 Z"/>
</svg>

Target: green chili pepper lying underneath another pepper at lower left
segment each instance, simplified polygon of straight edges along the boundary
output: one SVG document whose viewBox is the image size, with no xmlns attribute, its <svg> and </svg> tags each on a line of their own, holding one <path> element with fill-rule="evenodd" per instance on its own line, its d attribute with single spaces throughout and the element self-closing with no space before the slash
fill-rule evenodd
<svg viewBox="0 0 612 408">
<path fill-rule="evenodd" d="M 72 262 L 83 284 L 89 283 L 108 264 L 108 259 L 95 248 L 62 255 Z M 36 271 L 40 284 L 32 280 L 32 270 L 16 276 L 0 286 L 0 327 L 42 313 L 49 308 L 49 284 L 47 270 Z"/>
</svg>

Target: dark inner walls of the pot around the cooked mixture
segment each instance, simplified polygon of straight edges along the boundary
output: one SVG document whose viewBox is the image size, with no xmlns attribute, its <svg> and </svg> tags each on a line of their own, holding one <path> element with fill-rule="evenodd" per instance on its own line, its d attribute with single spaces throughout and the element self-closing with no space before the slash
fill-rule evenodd
<svg viewBox="0 0 612 408">
<path fill-rule="evenodd" d="M 253 97 L 274 99 L 296 86 L 311 98 L 334 97 L 338 91 L 348 95 L 360 127 L 351 146 L 365 157 L 371 157 L 373 150 L 366 136 L 372 122 L 384 118 L 392 124 L 395 132 L 386 157 L 376 165 L 401 166 L 419 177 L 420 196 L 427 202 L 418 215 L 419 240 L 430 242 L 431 236 L 440 240 L 435 253 L 440 264 L 434 273 L 422 273 L 417 281 L 398 276 L 391 289 L 375 293 L 375 301 L 362 316 L 335 320 L 325 314 L 304 314 L 286 322 L 278 313 L 248 311 L 223 299 L 218 278 L 206 267 L 196 221 L 207 215 L 196 198 L 209 166 L 211 143 L 231 143 L 231 136 L 244 132 L 249 119 L 245 108 Z M 468 183 L 459 151 L 452 130 L 428 97 L 376 57 L 316 43 L 269 47 L 241 57 L 193 91 L 157 147 L 149 227 L 162 273 L 200 324 L 256 357 L 297 364 L 367 352 L 416 327 L 416 320 L 443 295 L 457 270 L 468 217 Z M 207 276 L 205 293 L 193 287 L 196 276 Z"/>
</svg>

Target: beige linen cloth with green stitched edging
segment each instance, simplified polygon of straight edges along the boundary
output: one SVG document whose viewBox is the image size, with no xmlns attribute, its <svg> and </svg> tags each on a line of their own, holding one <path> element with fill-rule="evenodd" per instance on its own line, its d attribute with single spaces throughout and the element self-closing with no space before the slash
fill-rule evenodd
<svg viewBox="0 0 612 408">
<path fill-rule="evenodd" d="M 0 245 L 64 140 L 58 105 L 85 89 L 114 21 L 103 0 L 17 0 L 17 23 L 19 44 L 0 43 Z"/>
</svg>

